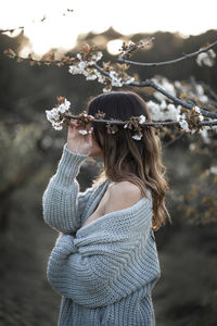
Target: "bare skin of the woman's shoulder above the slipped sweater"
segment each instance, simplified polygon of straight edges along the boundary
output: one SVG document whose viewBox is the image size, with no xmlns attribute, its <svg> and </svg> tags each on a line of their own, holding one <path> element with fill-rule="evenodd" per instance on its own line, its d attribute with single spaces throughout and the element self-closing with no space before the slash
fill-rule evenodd
<svg viewBox="0 0 217 326">
<path fill-rule="evenodd" d="M 105 214 L 132 206 L 142 198 L 138 186 L 120 181 L 111 187 L 105 202 Z"/>
</svg>

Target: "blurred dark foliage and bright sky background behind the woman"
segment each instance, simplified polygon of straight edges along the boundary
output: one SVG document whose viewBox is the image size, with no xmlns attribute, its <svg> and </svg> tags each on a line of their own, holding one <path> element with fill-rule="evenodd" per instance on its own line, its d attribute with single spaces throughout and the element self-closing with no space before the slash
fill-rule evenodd
<svg viewBox="0 0 217 326">
<path fill-rule="evenodd" d="M 154 36 L 136 61 L 157 62 L 181 57 L 217 39 L 215 1 L 91 1 L 90 3 L 8 2 L 1 4 L 0 28 L 0 325 L 56 325 L 61 296 L 52 290 L 46 269 L 58 233 L 44 224 L 42 195 L 66 141 L 67 128 L 54 130 L 44 111 L 56 96 L 86 109 L 102 85 L 73 76 L 68 67 L 30 66 L 3 55 L 8 48 L 22 57 L 75 55 L 95 45 L 103 61 L 115 62 L 122 41 Z M 13 11 L 12 11 L 13 9 Z M 216 48 L 214 48 L 216 50 Z M 195 60 L 159 67 L 130 67 L 141 80 L 156 75 L 169 80 L 200 82 L 217 101 L 217 67 Z M 206 86 L 206 87 L 205 87 Z M 125 88 L 125 89 L 130 89 Z M 117 89 L 118 90 L 118 89 Z M 131 89 L 145 100 L 150 91 Z M 157 326 L 217 325 L 217 135 L 159 134 L 170 191 L 173 224 L 155 233 L 162 277 L 153 290 Z M 174 138 L 173 138 L 174 137 Z M 173 140 L 173 141 L 171 141 Z M 98 162 L 98 161 L 97 161 Z M 80 190 L 91 186 L 99 168 L 86 160 L 78 175 Z"/>
</svg>

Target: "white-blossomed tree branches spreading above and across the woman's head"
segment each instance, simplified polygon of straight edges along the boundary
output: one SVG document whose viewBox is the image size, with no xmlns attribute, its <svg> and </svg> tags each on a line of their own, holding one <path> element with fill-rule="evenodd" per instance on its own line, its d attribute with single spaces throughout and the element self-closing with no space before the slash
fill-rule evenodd
<svg viewBox="0 0 217 326">
<path fill-rule="evenodd" d="M 206 46 L 202 45 L 194 52 L 170 61 L 133 61 L 132 58 L 136 51 L 148 47 L 151 42 L 154 42 L 154 39 L 124 42 L 116 58 L 116 63 L 103 61 L 103 53 L 94 46 L 89 45 L 85 45 L 76 54 L 65 54 L 59 60 L 55 59 L 54 53 L 48 54 L 43 60 L 35 59 L 31 53 L 27 58 L 21 58 L 11 49 L 5 50 L 4 54 L 17 62 L 27 61 L 30 66 L 55 65 L 60 68 L 66 66 L 73 78 L 82 75 L 88 83 L 94 80 L 102 85 L 104 92 L 125 87 L 135 88 L 136 90 L 143 89 L 144 93 L 146 90 L 146 93 L 152 95 L 152 99 L 146 101 L 152 114 L 151 122 L 146 122 L 144 116 L 132 116 L 128 122 L 106 121 L 103 114 L 99 113 L 98 116 L 90 116 L 82 110 L 80 110 L 79 115 L 74 115 L 71 112 L 71 102 L 63 97 L 58 97 L 56 105 L 51 110 L 46 110 L 47 118 L 56 130 L 61 130 L 64 123 L 68 124 L 71 120 L 77 120 L 81 126 L 80 134 L 86 135 L 89 131 L 91 121 L 94 120 L 105 122 L 108 134 L 116 133 L 118 125 L 132 129 L 132 138 L 136 141 L 141 139 L 140 130 L 145 125 L 155 127 L 156 131 L 161 130 L 159 135 L 165 135 L 173 129 L 178 136 L 171 138 L 168 143 L 173 143 L 182 135 L 191 136 L 192 134 L 197 135 L 205 145 L 212 143 L 217 130 L 217 96 L 207 85 L 195 80 L 192 80 L 192 83 L 186 80 L 171 82 L 159 75 L 140 80 L 137 74 L 129 74 L 128 71 L 129 67 L 132 70 L 133 66 L 140 66 L 141 68 L 145 66 L 156 68 L 163 65 L 173 66 L 184 60 L 195 60 L 199 68 L 205 65 L 212 68 L 216 62 L 214 50 L 217 40 Z M 216 165 L 210 165 L 209 175 L 216 175 Z M 191 203 L 187 202 L 187 205 L 189 210 Z"/>
</svg>

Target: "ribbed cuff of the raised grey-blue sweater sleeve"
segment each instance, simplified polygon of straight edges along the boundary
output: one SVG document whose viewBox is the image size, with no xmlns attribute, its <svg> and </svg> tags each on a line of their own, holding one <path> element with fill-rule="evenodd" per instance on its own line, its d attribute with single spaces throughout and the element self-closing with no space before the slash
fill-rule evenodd
<svg viewBox="0 0 217 326">
<path fill-rule="evenodd" d="M 56 170 L 56 180 L 65 186 L 72 184 L 78 175 L 81 163 L 88 158 L 88 154 L 74 153 L 67 148 L 67 143 L 63 147 L 63 154 Z"/>
</svg>

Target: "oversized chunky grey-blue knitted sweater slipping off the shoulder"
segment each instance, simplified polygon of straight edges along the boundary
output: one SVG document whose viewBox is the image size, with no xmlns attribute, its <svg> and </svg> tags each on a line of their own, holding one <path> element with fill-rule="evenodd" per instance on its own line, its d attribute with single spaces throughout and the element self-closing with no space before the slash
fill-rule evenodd
<svg viewBox="0 0 217 326">
<path fill-rule="evenodd" d="M 62 296 L 59 326 L 154 326 L 152 289 L 161 276 L 152 196 L 85 225 L 110 180 L 79 192 L 86 154 L 63 147 L 43 193 L 43 218 L 60 231 L 47 277 Z M 72 235 L 73 234 L 73 235 Z"/>
</svg>

